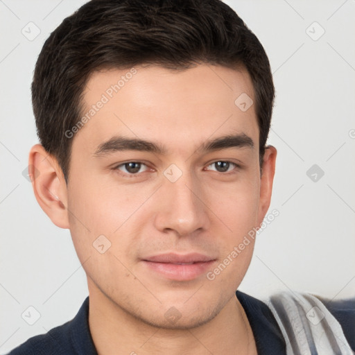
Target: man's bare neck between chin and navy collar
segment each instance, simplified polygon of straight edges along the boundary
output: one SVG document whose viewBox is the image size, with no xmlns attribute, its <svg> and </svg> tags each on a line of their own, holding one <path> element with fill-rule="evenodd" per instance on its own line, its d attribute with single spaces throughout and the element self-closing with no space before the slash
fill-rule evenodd
<svg viewBox="0 0 355 355">
<path fill-rule="evenodd" d="M 248 318 L 236 297 L 200 327 L 162 329 L 94 292 L 89 295 L 89 328 L 98 355 L 257 354 Z"/>
</svg>

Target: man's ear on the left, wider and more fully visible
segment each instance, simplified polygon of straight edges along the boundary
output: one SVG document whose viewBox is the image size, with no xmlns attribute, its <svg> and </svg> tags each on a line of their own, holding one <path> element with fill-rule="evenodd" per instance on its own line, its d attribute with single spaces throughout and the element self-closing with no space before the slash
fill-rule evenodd
<svg viewBox="0 0 355 355">
<path fill-rule="evenodd" d="M 31 148 L 28 158 L 33 192 L 37 202 L 52 222 L 61 228 L 69 228 L 67 211 L 67 184 L 57 159 L 41 146 Z"/>
</svg>

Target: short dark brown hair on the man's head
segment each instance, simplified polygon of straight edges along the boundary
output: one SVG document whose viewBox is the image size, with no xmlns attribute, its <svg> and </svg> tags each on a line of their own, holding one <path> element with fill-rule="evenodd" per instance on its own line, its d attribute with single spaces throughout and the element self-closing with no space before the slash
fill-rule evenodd
<svg viewBox="0 0 355 355">
<path fill-rule="evenodd" d="M 254 33 L 219 0 L 92 0 L 64 19 L 44 43 L 33 76 L 40 143 L 68 181 L 72 141 L 65 132 L 80 121 L 93 71 L 200 63 L 248 70 L 262 162 L 275 97 L 270 63 Z"/>
</svg>

